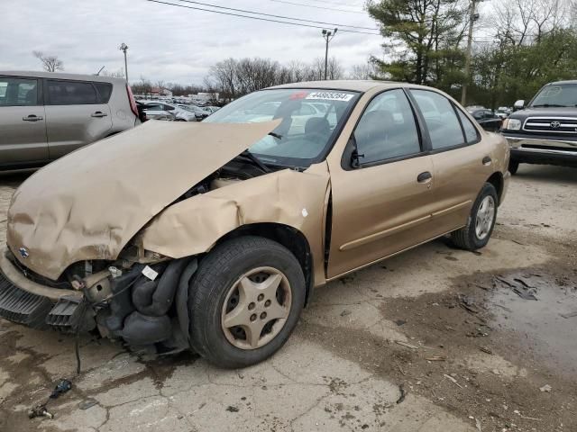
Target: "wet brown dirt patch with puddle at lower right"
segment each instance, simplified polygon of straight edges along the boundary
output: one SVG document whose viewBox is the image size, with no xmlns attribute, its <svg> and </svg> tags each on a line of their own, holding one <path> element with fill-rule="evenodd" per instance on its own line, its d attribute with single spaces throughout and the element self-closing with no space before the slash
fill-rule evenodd
<svg viewBox="0 0 577 432">
<path fill-rule="evenodd" d="M 560 313 L 577 311 L 576 280 L 575 270 L 549 264 L 383 301 L 383 318 L 408 342 L 311 324 L 303 333 L 482 430 L 573 431 L 577 317 Z"/>
</svg>

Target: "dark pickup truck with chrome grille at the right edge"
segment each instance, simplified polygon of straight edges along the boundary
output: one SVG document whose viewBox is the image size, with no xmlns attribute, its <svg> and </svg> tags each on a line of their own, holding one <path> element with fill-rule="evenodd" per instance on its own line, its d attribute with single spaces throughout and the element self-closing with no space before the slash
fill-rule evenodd
<svg viewBox="0 0 577 432">
<path fill-rule="evenodd" d="M 511 174 L 520 163 L 577 166 L 577 80 L 549 83 L 515 109 L 500 130 L 511 148 Z"/>
</svg>

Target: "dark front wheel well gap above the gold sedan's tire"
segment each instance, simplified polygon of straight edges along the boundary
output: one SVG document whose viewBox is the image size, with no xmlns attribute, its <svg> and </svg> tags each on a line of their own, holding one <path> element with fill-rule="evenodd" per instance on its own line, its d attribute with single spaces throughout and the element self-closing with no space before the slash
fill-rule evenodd
<svg viewBox="0 0 577 432">
<path fill-rule="evenodd" d="M 242 236 L 260 236 L 269 238 L 287 247 L 289 251 L 297 258 L 298 263 L 303 269 L 307 293 L 305 295 L 305 306 L 309 301 L 310 294 L 313 291 L 315 283 L 315 272 L 313 267 L 313 256 L 310 252 L 307 238 L 298 229 L 289 227 L 281 223 L 252 223 L 243 225 L 220 238 L 217 243 L 222 243 L 231 238 Z"/>
</svg>

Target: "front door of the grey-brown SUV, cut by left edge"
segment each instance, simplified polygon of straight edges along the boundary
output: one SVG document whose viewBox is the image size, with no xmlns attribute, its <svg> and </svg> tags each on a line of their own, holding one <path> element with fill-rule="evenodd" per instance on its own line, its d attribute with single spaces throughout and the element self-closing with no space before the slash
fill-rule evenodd
<svg viewBox="0 0 577 432">
<path fill-rule="evenodd" d="M 0 76 L 0 168 L 48 158 L 41 78 Z"/>
</svg>

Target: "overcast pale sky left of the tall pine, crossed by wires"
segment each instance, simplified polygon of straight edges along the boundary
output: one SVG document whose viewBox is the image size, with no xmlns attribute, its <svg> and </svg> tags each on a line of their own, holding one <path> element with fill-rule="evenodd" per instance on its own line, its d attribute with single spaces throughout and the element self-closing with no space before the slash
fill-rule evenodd
<svg viewBox="0 0 577 432">
<path fill-rule="evenodd" d="M 274 0 L 204 0 L 203 3 L 326 23 L 377 27 L 363 11 L 363 0 L 286 1 L 320 8 Z M 0 70 L 41 70 L 40 61 L 32 56 L 32 50 L 41 50 L 57 55 L 70 73 L 93 74 L 102 66 L 117 71 L 124 67 L 123 55 L 118 49 L 124 42 L 129 46 L 131 81 L 145 76 L 154 81 L 201 84 L 208 67 L 224 58 L 262 57 L 288 63 L 290 60 L 310 62 L 325 55 L 320 29 L 266 23 L 145 0 L 12 0 L 12 3 L 14 7 L 3 8 Z M 353 13 L 323 9 L 323 6 Z M 365 63 L 371 55 L 381 56 L 381 42 L 380 36 L 339 31 L 329 53 L 348 68 Z"/>
</svg>

